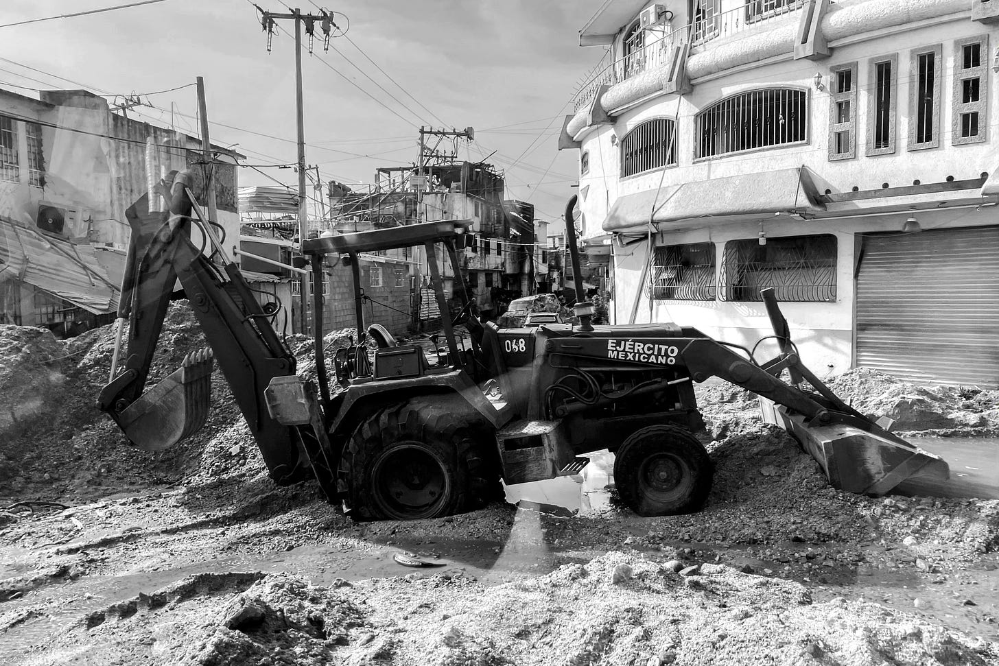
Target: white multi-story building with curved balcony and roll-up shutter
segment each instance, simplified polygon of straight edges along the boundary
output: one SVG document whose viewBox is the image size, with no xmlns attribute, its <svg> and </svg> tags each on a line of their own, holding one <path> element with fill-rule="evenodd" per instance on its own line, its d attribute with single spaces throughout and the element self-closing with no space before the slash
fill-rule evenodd
<svg viewBox="0 0 999 666">
<path fill-rule="evenodd" d="M 751 345 L 772 287 L 816 370 L 999 385 L 997 19 L 986 0 L 604 3 L 559 147 L 583 235 L 612 238 L 613 321 Z"/>
</svg>

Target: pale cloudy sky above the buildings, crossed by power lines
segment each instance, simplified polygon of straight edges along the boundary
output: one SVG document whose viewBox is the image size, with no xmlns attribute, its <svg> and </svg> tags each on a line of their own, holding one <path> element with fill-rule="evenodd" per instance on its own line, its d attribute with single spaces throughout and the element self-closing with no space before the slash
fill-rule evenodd
<svg viewBox="0 0 999 666">
<path fill-rule="evenodd" d="M 135 1 L 4 0 L 0 24 Z M 473 127 L 476 140 L 460 142 L 459 156 L 489 157 L 505 174 L 507 198 L 534 204 L 539 219 L 559 218 L 578 156 L 559 152 L 557 135 L 580 77 L 602 56 L 601 47 L 578 46 L 578 29 L 601 2 L 302 0 L 303 12 L 338 12 L 346 29 L 329 52 L 317 39 L 314 54 L 303 54 L 306 162 L 324 181 L 371 183 L 376 167 L 416 161 L 421 125 Z M 189 84 L 202 76 L 212 142 L 236 144 L 259 170 L 241 169 L 240 185 L 297 188 L 293 169 L 263 166 L 298 159 L 294 23 L 278 25 L 271 53 L 250 0 L 164 0 L 3 27 L 0 87 L 28 96 L 13 86 L 84 87 L 111 102 L 135 93 L 153 106 L 131 117 L 197 135 Z M 180 86 L 188 87 L 158 92 Z"/>
</svg>

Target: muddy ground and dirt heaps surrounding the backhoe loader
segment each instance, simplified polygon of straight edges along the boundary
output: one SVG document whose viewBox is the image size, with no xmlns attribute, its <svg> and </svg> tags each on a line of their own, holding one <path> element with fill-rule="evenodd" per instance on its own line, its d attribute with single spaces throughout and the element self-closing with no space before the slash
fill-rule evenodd
<svg viewBox="0 0 999 666">
<path fill-rule="evenodd" d="M 165 339 L 159 375 L 204 344 L 180 306 Z M 358 524 L 270 481 L 221 376 L 201 432 L 130 447 L 93 408 L 112 340 L 0 327 L 2 664 L 999 664 L 999 501 L 833 490 L 744 391 L 698 388 L 699 513 L 639 518 L 610 489 L 574 517 Z M 908 436 L 991 436 L 997 461 L 996 391 L 833 387 Z"/>
</svg>

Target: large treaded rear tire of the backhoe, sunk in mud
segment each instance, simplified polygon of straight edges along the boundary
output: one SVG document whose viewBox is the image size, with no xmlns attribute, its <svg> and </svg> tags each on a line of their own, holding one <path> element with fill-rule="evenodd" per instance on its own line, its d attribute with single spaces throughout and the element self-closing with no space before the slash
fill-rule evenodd
<svg viewBox="0 0 999 666">
<path fill-rule="evenodd" d="M 413 397 L 358 426 L 344 451 L 341 478 L 354 516 L 363 520 L 469 511 L 497 497 L 496 437 L 460 395 Z"/>
</svg>

